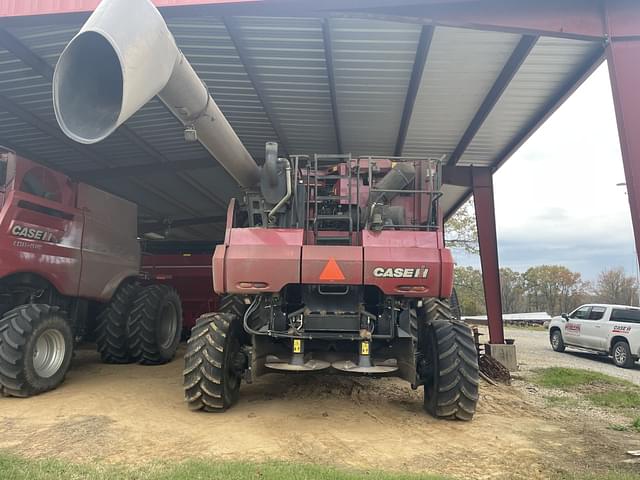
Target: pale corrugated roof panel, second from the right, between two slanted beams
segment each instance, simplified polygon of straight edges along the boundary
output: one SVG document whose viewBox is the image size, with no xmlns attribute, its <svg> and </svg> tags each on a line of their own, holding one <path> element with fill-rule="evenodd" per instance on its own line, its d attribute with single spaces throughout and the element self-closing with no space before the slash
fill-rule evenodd
<svg viewBox="0 0 640 480">
<path fill-rule="evenodd" d="M 436 28 L 403 154 L 451 154 L 519 40 L 508 33 Z"/>
</svg>

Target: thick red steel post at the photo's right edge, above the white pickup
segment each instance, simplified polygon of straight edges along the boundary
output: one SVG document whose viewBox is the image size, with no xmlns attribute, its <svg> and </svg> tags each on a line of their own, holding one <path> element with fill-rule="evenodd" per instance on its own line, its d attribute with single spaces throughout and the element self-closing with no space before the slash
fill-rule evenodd
<svg viewBox="0 0 640 480">
<path fill-rule="evenodd" d="M 640 38 L 613 40 L 607 47 L 631 220 L 640 252 Z"/>
</svg>

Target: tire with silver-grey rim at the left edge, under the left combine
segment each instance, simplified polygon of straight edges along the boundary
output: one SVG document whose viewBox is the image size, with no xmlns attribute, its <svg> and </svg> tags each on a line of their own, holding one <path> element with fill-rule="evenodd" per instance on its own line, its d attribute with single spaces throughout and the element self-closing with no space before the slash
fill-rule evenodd
<svg viewBox="0 0 640 480">
<path fill-rule="evenodd" d="M 3 394 L 30 397 L 64 381 L 73 353 L 69 318 L 59 307 L 22 305 L 5 313 L 0 336 Z"/>
</svg>

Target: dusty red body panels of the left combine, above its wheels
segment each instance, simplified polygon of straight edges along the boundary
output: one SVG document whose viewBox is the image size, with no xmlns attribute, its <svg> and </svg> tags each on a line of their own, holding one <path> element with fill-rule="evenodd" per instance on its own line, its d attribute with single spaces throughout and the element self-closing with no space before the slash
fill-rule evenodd
<svg viewBox="0 0 640 480">
<path fill-rule="evenodd" d="M 25 158 L 2 158 L 0 279 L 32 273 L 62 295 L 108 301 L 137 276 L 135 205 Z"/>
</svg>

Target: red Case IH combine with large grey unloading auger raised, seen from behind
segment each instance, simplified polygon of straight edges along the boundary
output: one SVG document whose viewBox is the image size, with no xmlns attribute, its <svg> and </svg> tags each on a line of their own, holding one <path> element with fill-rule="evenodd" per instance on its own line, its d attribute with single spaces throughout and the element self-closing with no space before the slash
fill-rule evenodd
<svg viewBox="0 0 640 480">
<path fill-rule="evenodd" d="M 448 301 L 439 160 L 279 158 L 268 143 L 258 167 L 156 8 L 104 0 L 56 68 L 62 130 L 98 142 L 156 95 L 244 189 L 213 258 L 224 297 L 188 344 L 190 408 L 224 411 L 268 372 L 333 371 L 399 376 L 432 415 L 470 420 L 477 354 Z"/>
</svg>

